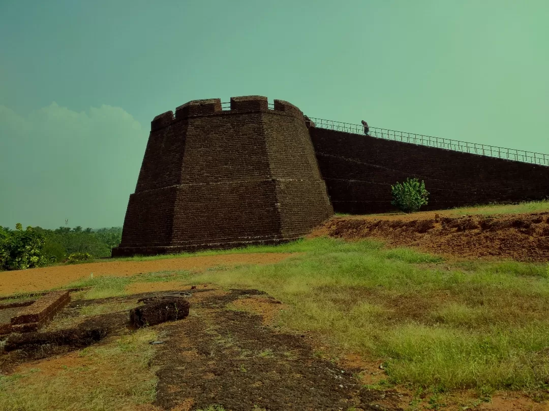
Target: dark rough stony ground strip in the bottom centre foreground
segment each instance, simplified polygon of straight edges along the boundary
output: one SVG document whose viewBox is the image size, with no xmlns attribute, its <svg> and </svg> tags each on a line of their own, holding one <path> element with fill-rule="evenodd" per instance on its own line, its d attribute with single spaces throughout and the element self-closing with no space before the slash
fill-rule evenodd
<svg viewBox="0 0 549 411">
<path fill-rule="evenodd" d="M 353 376 L 358 370 L 315 356 L 305 335 L 276 332 L 262 316 L 227 309 L 227 304 L 255 295 L 262 293 L 231 290 L 194 300 L 194 315 L 184 326 L 163 328 L 159 338 L 166 344 L 155 361 L 161 367 L 155 406 L 177 411 L 212 404 L 233 411 L 402 409 L 395 404 L 380 408 L 382 393 L 361 386 Z M 383 399 L 391 395 L 394 402 L 401 399 L 390 392 Z"/>
</svg>

